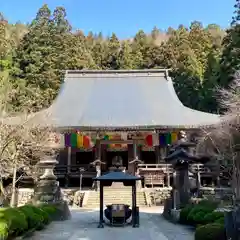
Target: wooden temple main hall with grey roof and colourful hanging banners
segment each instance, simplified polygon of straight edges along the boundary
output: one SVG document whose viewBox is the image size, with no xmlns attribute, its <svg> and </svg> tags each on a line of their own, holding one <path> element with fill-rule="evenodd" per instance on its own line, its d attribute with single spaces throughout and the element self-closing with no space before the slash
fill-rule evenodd
<svg viewBox="0 0 240 240">
<path fill-rule="evenodd" d="M 154 187 L 171 185 L 164 157 L 179 134 L 196 141 L 199 129 L 218 123 L 220 116 L 184 106 L 167 69 L 69 70 L 52 105 L 34 119 L 56 129 L 61 186 L 79 186 L 81 175 L 83 187 L 91 188 L 96 174 L 117 163 L 143 176 L 143 186 Z M 212 181 L 201 171 L 202 181 Z"/>
</svg>

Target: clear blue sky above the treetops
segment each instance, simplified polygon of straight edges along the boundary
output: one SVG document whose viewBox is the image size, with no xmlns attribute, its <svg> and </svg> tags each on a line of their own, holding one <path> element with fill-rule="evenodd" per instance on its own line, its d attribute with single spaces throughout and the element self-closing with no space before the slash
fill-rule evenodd
<svg viewBox="0 0 240 240">
<path fill-rule="evenodd" d="M 115 32 L 120 38 L 132 37 L 139 29 L 150 32 L 154 26 L 230 24 L 235 0 L 0 0 L 0 11 L 10 22 L 31 22 L 37 10 L 47 3 L 53 10 L 64 6 L 74 29 Z"/>
</svg>

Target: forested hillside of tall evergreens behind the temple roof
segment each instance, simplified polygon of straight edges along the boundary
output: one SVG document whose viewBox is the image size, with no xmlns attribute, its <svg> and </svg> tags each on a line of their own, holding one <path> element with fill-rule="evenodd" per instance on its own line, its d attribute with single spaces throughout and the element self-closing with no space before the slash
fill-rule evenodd
<svg viewBox="0 0 240 240">
<path fill-rule="evenodd" d="M 37 111 L 51 104 L 66 69 L 171 68 L 180 100 L 194 109 L 218 112 L 216 87 L 227 87 L 240 62 L 240 4 L 228 29 L 216 24 L 203 27 L 169 27 L 161 32 L 142 30 L 132 39 L 116 34 L 72 31 L 64 8 L 53 12 L 44 5 L 25 26 L 9 24 L 0 15 L 0 69 L 9 110 Z M 3 88 L 5 87 L 5 88 Z M 122 93 L 124 94 L 124 93 Z"/>
</svg>

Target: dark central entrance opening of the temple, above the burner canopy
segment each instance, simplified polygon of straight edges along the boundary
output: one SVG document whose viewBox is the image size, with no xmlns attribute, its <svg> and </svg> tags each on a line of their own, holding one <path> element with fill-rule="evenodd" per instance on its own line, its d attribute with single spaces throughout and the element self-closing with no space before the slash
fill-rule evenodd
<svg viewBox="0 0 240 240">
<path fill-rule="evenodd" d="M 120 166 L 128 168 L 128 152 L 127 151 L 107 151 L 106 152 L 107 169 L 119 164 Z"/>
</svg>

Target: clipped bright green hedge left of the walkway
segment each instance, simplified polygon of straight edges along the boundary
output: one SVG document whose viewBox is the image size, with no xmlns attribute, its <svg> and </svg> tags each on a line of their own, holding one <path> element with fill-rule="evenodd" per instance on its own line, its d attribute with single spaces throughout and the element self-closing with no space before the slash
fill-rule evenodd
<svg viewBox="0 0 240 240">
<path fill-rule="evenodd" d="M 41 230 L 56 212 L 54 206 L 25 205 L 0 209 L 0 239 L 14 238 L 28 231 Z"/>
</svg>

